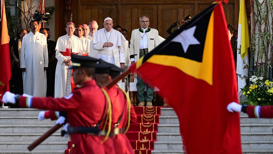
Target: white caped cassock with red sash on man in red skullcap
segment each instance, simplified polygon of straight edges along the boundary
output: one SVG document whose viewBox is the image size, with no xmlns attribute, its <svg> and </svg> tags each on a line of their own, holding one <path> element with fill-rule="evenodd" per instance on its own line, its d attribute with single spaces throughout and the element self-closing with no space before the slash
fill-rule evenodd
<svg viewBox="0 0 273 154">
<path fill-rule="evenodd" d="M 67 70 L 68 66 L 66 60 L 71 60 L 71 54 L 81 55 L 83 50 L 83 43 L 77 36 L 71 37 L 67 34 L 61 36 L 56 44 L 56 59 L 58 60 L 55 73 L 55 98 L 62 98 L 71 93 L 71 70 Z M 75 85 L 76 87 L 76 85 Z"/>
</svg>

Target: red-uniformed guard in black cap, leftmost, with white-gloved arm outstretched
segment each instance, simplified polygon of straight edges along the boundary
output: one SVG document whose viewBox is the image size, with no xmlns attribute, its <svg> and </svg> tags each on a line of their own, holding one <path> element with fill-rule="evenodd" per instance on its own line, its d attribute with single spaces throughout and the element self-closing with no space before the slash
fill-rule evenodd
<svg viewBox="0 0 273 154">
<path fill-rule="evenodd" d="M 64 98 L 23 97 L 6 92 L 2 101 L 12 103 L 21 108 L 39 108 L 54 111 L 66 111 L 68 116 L 68 132 L 71 139 L 71 154 L 104 154 L 102 139 L 99 132 L 104 132 L 102 126 L 111 125 L 111 102 L 104 89 L 93 80 L 97 59 L 89 56 L 71 55 L 75 88 Z M 92 92 L 91 92 L 92 91 Z M 9 104 L 9 103 L 8 103 Z M 102 123 L 102 122 L 105 123 Z M 106 132 L 106 137 L 109 132 Z M 106 138 L 105 137 L 105 138 Z"/>
</svg>

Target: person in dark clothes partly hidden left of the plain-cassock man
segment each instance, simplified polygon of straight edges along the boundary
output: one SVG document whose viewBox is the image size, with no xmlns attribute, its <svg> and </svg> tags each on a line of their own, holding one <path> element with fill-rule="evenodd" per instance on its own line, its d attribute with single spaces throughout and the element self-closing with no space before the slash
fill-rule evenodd
<svg viewBox="0 0 273 154">
<path fill-rule="evenodd" d="M 12 57 L 12 77 L 13 81 L 11 91 L 14 94 L 23 94 L 23 75 L 20 69 L 20 54 L 23 37 L 27 34 L 27 30 L 22 29 L 19 33 L 19 39 L 11 42 L 11 57 Z"/>
</svg>

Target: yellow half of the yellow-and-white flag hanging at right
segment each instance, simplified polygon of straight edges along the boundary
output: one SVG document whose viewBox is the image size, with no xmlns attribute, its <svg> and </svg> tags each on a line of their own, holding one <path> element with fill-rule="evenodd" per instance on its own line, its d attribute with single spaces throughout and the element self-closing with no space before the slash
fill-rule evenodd
<svg viewBox="0 0 273 154">
<path fill-rule="evenodd" d="M 241 57 L 244 57 L 248 54 L 249 43 L 249 33 L 248 33 L 248 20 L 245 9 L 245 1 L 241 0 L 240 4 L 240 13 L 239 13 L 239 24 L 241 24 Z"/>
</svg>

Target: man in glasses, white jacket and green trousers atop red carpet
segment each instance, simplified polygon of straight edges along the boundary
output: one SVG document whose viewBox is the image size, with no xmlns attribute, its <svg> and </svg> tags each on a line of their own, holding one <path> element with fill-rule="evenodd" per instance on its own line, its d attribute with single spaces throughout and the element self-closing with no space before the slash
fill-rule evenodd
<svg viewBox="0 0 273 154">
<path fill-rule="evenodd" d="M 130 59 L 132 64 L 160 44 L 158 31 L 156 29 L 149 28 L 149 23 L 149 18 L 142 15 L 139 19 L 141 28 L 134 29 L 132 31 L 130 40 Z M 139 77 L 136 78 L 137 98 L 140 102 L 138 106 L 145 106 L 145 101 L 147 102 L 146 106 L 153 106 L 152 100 L 154 90 L 148 85 L 146 86 L 143 80 L 141 80 Z M 145 86 L 147 94 L 145 94 L 144 91 Z"/>
</svg>

